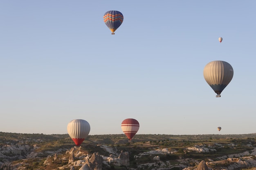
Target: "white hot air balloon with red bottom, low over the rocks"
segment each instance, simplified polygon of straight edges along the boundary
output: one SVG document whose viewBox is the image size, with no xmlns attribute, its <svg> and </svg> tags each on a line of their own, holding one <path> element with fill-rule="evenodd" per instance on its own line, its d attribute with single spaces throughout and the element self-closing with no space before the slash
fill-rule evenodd
<svg viewBox="0 0 256 170">
<path fill-rule="evenodd" d="M 67 133 L 76 146 L 80 146 L 90 132 L 90 124 L 86 120 L 75 119 L 67 124 Z"/>
</svg>

